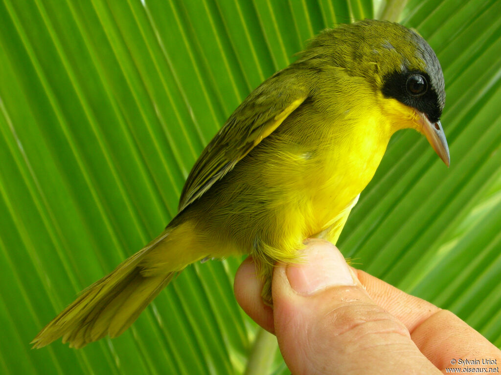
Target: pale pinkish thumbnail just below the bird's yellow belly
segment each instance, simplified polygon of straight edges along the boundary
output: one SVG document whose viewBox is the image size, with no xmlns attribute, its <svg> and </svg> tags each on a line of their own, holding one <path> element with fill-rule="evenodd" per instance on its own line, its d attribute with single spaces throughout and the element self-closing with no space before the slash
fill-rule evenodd
<svg viewBox="0 0 501 375">
<path fill-rule="evenodd" d="M 355 285 L 350 268 L 331 243 L 311 240 L 301 257 L 301 263 L 287 266 L 287 278 L 292 288 L 300 294 L 312 294 L 336 285 Z"/>
</svg>

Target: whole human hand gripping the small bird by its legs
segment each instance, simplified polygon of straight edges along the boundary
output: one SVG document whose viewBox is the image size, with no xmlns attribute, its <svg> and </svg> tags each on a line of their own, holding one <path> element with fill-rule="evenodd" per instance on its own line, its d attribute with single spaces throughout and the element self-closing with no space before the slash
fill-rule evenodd
<svg viewBox="0 0 501 375">
<path fill-rule="evenodd" d="M 310 239 L 304 262 L 275 268 L 273 308 L 263 303 L 262 285 L 247 258 L 235 276 L 236 299 L 277 335 L 295 375 L 499 372 L 501 351 L 480 333 L 452 312 L 349 267 L 329 242 Z"/>
</svg>

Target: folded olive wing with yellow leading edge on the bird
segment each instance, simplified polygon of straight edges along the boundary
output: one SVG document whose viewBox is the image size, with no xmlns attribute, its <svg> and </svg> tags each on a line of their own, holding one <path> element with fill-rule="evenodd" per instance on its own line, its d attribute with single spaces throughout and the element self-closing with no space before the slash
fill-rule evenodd
<svg viewBox="0 0 501 375">
<path fill-rule="evenodd" d="M 307 90 L 299 83 L 297 75 L 285 70 L 277 72 L 250 93 L 205 147 L 191 169 L 179 199 L 179 211 L 229 172 L 307 96 Z"/>
</svg>

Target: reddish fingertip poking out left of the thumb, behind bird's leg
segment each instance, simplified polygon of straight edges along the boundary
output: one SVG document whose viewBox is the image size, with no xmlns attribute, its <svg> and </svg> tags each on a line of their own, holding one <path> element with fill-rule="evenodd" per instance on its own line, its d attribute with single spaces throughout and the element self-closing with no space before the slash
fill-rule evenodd
<svg viewBox="0 0 501 375">
<path fill-rule="evenodd" d="M 233 290 L 236 301 L 250 318 L 269 332 L 275 333 L 273 309 L 267 306 L 261 297 L 263 284 L 263 280 L 257 275 L 254 259 L 247 257 L 235 274 Z"/>
</svg>

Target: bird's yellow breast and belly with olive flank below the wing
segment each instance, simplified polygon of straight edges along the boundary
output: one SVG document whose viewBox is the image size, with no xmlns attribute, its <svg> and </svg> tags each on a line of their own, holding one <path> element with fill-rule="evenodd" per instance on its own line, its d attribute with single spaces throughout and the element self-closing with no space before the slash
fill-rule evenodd
<svg viewBox="0 0 501 375">
<path fill-rule="evenodd" d="M 318 102 L 300 107 L 189 207 L 207 255 L 293 261 L 305 238 L 337 239 L 393 129 L 373 103 L 340 114 L 312 108 Z"/>
</svg>

